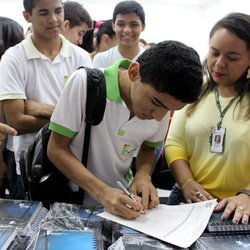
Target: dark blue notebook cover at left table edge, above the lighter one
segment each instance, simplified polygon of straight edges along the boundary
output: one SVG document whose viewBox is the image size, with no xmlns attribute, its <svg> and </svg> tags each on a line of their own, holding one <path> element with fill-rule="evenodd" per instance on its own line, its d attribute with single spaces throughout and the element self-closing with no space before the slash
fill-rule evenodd
<svg viewBox="0 0 250 250">
<path fill-rule="evenodd" d="M 0 199 L 0 226 L 14 226 L 25 234 L 41 208 L 38 201 Z"/>
</svg>

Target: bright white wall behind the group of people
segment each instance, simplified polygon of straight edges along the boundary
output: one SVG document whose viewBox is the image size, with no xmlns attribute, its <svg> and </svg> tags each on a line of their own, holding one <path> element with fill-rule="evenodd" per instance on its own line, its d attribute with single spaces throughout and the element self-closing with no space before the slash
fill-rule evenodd
<svg viewBox="0 0 250 250">
<path fill-rule="evenodd" d="M 77 1 L 84 5 L 94 20 L 112 18 L 114 6 L 119 2 L 119 0 Z M 205 1 L 208 2 L 206 5 L 201 4 L 204 0 L 199 1 L 196 1 L 198 5 L 187 5 L 178 4 L 179 1 L 138 0 L 146 13 L 146 29 L 141 36 L 148 42 L 167 39 L 182 41 L 194 47 L 203 59 L 207 51 L 209 31 L 218 19 L 232 11 L 250 14 L 249 0 L 210 0 Z M 22 2 L 22 0 L 0 0 L 0 15 L 18 21 L 26 30 L 28 24 L 22 16 Z"/>
</svg>

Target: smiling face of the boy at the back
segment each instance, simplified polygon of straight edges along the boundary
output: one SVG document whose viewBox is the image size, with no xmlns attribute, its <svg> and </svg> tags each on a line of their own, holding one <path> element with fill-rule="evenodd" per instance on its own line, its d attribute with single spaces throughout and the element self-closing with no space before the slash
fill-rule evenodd
<svg viewBox="0 0 250 250">
<path fill-rule="evenodd" d="M 124 47 L 138 46 L 139 37 L 144 28 L 145 25 L 135 13 L 118 14 L 115 23 L 113 23 L 118 44 Z"/>
</svg>

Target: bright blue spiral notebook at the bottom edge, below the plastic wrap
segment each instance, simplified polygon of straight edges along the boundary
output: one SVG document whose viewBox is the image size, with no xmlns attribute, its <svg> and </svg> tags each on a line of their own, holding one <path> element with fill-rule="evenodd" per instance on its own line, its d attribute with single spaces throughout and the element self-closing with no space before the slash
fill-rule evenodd
<svg viewBox="0 0 250 250">
<path fill-rule="evenodd" d="M 99 250 L 98 242 L 91 230 L 41 230 L 34 250 Z"/>
</svg>

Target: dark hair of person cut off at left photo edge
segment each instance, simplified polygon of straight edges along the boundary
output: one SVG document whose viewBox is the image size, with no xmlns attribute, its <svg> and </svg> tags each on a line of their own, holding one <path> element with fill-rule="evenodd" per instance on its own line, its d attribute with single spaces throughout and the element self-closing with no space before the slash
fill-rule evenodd
<svg viewBox="0 0 250 250">
<path fill-rule="evenodd" d="M 4 52 L 24 39 L 23 27 L 16 21 L 0 17 L 0 59 Z"/>
</svg>

